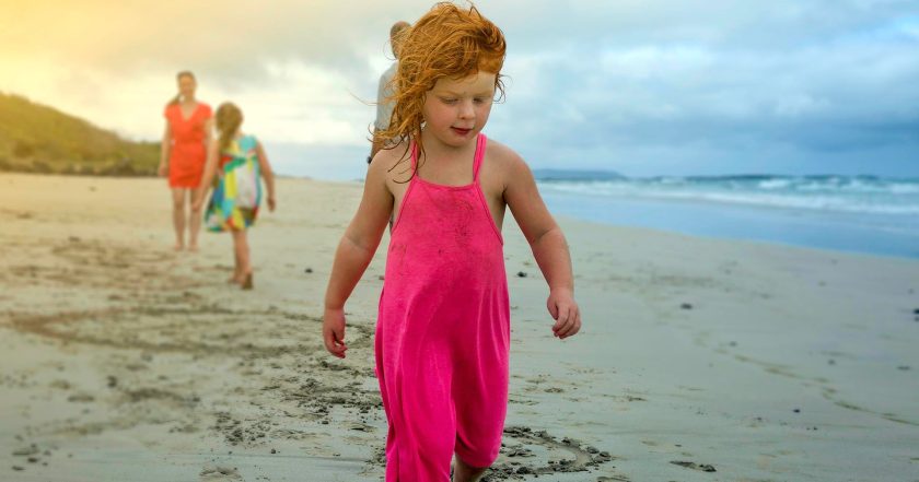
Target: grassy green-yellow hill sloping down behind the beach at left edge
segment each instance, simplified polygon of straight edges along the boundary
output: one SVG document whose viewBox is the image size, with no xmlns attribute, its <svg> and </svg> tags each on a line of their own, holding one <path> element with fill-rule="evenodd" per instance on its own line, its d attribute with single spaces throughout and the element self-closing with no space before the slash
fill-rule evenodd
<svg viewBox="0 0 919 482">
<path fill-rule="evenodd" d="M 149 176 L 159 142 L 131 142 L 114 132 L 0 92 L 0 171 Z"/>
</svg>

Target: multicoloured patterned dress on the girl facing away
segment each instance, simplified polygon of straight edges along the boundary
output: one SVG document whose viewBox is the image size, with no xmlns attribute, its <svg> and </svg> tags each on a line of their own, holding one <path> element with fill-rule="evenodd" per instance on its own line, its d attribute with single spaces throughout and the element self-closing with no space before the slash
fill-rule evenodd
<svg viewBox="0 0 919 482">
<path fill-rule="evenodd" d="M 218 178 L 205 211 L 208 231 L 241 231 L 255 223 L 261 202 L 257 145 L 255 137 L 244 136 L 221 151 Z"/>
</svg>

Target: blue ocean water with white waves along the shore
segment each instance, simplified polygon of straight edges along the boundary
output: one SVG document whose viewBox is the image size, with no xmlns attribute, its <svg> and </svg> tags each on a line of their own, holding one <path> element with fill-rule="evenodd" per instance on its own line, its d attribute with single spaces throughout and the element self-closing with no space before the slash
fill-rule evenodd
<svg viewBox="0 0 919 482">
<path fill-rule="evenodd" d="M 556 214 L 697 236 L 919 258 L 919 179 L 874 176 L 626 178 L 536 172 Z"/>
</svg>

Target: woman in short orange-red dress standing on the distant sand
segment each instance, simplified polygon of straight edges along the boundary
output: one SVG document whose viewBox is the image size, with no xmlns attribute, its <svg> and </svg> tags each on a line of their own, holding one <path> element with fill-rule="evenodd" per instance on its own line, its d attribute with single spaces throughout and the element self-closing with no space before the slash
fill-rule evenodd
<svg viewBox="0 0 919 482">
<path fill-rule="evenodd" d="M 188 226 L 188 249 L 198 250 L 201 211 L 193 201 L 198 196 L 208 145 L 212 142 L 213 119 L 209 105 L 195 98 L 197 82 L 188 71 L 176 75 L 178 95 L 166 104 L 163 117 L 166 130 L 160 153 L 160 176 L 168 176 L 173 199 L 175 250 L 185 248 L 185 227 Z M 186 216 L 186 205 L 190 210 Z M 188 220 L 186 222 L 186 219 Z"/>
</svg>

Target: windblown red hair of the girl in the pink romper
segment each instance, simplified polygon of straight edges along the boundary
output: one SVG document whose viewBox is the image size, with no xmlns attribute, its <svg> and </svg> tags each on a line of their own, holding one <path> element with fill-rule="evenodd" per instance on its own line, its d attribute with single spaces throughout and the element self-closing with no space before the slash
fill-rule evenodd
<svg viewBox="0 0 919 482">
<path fill-rule="evenodd" d="M 441 2 L 402 33 L 399 67 L 393 78 L 394 102 L 389 127 L 376 133 L 379 140 L 421 143 L 421 108 L 427 93 L 443 78 L 463 79 L 479 71 L 493 72 L 495 89 L 504 95 L 501 67 L 504 64 L 504 34 L 470 5 L 468 10 Z M 499 96 L 499 97 L 500 97 Z M 405 143 L 408 149 L 408 142 Z"/>
</svg>

